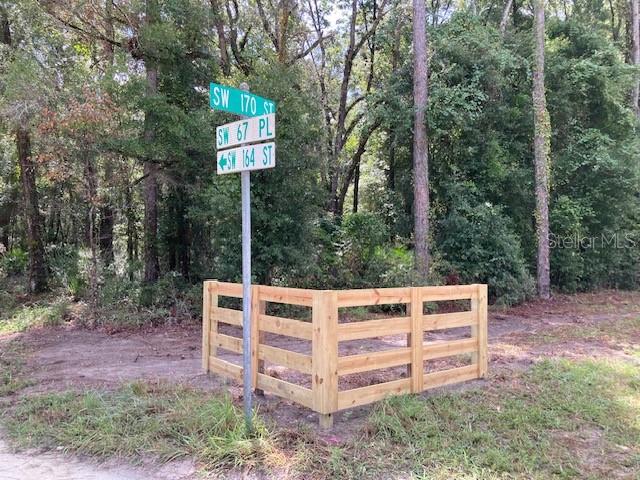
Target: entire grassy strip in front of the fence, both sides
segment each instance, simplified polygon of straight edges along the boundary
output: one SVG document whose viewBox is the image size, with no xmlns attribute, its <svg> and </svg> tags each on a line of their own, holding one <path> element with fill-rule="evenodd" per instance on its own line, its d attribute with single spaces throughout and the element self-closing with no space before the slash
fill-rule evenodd
<svg viewBox="0 0 640 480">
<path fill-rule="evenodd" d="M 547 360 L 506 383 L 392 397 L 365 427 L 327 444 L 312 429 L 247 435 L 228 397 L 165 384 L 24 398 L 6 413 L 22 447 L 98 457 L 190 456 L 210 470 L 278 468 L 300 478 L 634 478 L 640 471 L 640 368 Z M 347 420 L 345 420 L 347 421 Z M 395 475 L 395 476 L 394 476 Z"/>
</svg>

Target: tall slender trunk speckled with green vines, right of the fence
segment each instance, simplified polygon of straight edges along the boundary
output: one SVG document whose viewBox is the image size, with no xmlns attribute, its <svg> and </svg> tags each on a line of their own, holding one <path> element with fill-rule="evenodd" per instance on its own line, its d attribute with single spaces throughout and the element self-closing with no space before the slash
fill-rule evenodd
<svg viewBox="0 0 640 480">
<path fill-rule="evenodd" d="M 533 71 L 534 163 L 536 233 L 538 241 L 538 295 L 548 299 L 549 282 L 549 170 L 551 122 L 544 88 L 544 0 L 534 0 L 535 66 Z"/>
</svg>

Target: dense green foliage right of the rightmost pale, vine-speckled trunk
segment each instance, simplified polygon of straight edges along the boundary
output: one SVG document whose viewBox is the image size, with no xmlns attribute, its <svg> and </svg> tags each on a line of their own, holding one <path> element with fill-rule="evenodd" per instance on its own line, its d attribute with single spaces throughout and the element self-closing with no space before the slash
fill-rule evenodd
<svg viewBox="0 0 640 480">
<path fill-rule="evenodd" d="M 640 142 L 626 92 L 632 69 L 598 31 L 553 22 L 551 272 L 561 289 L 636 288 Z"/>
</svg>

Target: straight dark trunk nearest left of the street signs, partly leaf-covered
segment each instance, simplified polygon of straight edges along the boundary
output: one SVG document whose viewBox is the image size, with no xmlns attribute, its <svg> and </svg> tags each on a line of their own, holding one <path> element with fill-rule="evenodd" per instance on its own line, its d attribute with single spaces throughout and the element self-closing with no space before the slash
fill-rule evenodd
<svg viewBox="0 0 640 480">
<path fill-rule="evenodd" d="M 147 0 L 147 23 L 155 24 L 160 14 L 157 0 Z M 146 95 L 153 97 L 158 93 L 158 66 L 154 59 L 145 58 Z M 144 141 L 148 150 L 155 139 L 153 112 L 145 112 Z M 158 261 L 158 165 L 147 154 L 144 165 L 144 280 L 152 283 L 160 276 Z"/>
</svg>

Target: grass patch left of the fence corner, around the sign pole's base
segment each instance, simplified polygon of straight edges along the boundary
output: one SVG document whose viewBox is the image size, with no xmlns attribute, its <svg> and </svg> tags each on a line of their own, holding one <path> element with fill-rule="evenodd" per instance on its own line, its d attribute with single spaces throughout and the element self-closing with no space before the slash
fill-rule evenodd
<svg viewBox="0 0 640 480">
<path fill-rule="evenodd" d="M 226 396 L 143 383 L 25 398 L 5 422 L 21 447 L 62 446 L 98 457 L 193 456 L 213 469 L 275 461 L 266 427 L 259 419 L 255 424 L 248 435 L 242 411 Z"/>
</svg>

